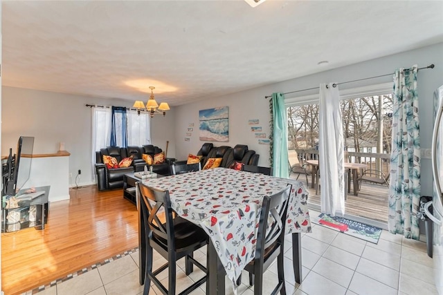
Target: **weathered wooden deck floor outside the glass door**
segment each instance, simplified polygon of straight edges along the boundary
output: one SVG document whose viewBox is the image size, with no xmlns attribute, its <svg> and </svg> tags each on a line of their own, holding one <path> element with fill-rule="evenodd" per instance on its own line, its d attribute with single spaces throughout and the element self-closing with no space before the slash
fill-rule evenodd
<svg viewBox="0 0 443 295">
<path fill-rule="evenodd" d="M 291 178 L 296 178 L 297 175 L 291 175 Z M 300 175 L 298 178 L 301 182 L 306 184 L 305 175 Z M 306 186 L 305 186 L 306 187 Z M 311 178 L 309 177 L 309 198 L 308 204 L 316 204 L 320 206 L 320 193 L 316 195 L 316 189 L 311 188 Z M 347 194 L 345 200 L 345 213 L 352 216 L 359 216 L 369 218 L 378 222 L 388 223 L 388 187 L 386 185 L 369 184 L 363 182 L 361 184 L 361 191 L 359 196 L 354 196 L 353 186 L 351 184 L 351 193 Z"/>
</svg>

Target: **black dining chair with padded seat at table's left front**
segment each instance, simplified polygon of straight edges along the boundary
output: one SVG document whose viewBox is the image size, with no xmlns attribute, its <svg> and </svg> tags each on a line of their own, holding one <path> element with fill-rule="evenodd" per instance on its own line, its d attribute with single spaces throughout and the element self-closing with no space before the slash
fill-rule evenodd
<svg viewBox="0 0 443 295">
<path fill-rule="evenodd" d="M 148 187 L 143 182 L 138 183 L 140 193 L 140 209 L 143 213 L 143 226 L 141 230 L 145 232 L 145 240 L 141 238 L 141 251 L 143 246 L 145 251 L 141 253 L 141 276 L 144 274 L 145 284 L 143 294 L 149 294 L 151 280 L 159 290 L 165 294 L 176 294 L 177 260 L 185 257 L 186 274 L 192 272 L 192 265 L 196 265 L 207 274 L 206 267 L 193 258 L 193 252 L 208 244 L 206 232 L 185 220 L 177 214 L 173 214 L 169 191 L 163 191 Z M 168 263 L 152 270 L 152 250 L 155 249 Z M 143 259 L 145 258 L 145 259 Z M 144 260 L 144 261 L 143 261 Z M 168 268 L 168 289 L 156 277 L 163 270 Z M 179 295 L 186 295 L 197 289 L 206 282 L 206 274 L 194 284 L 183 290 Z"/>
</svg>

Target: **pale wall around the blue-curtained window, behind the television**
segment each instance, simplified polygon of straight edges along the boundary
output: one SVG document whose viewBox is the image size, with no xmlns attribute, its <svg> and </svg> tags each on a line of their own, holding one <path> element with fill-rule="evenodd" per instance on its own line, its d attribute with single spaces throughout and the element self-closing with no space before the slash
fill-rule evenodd
<svg viewBox="0 0 443 295">
<path fill-rule="evenodd" d="M 75 184 L 78 169 L 82 171 L 80 186 L 91 184 L 95 177 L 91 168 L 91 108 L 85 104 L 131 107 L 134 102 L 124 99 L 86 97 L 48 91 L 3 86 L 1 99 L 1 155 L 15 153 L 20 135 L 34 136 L 34 153 L 55 153 L 64 142 L 69 157 L 69 173 Z M 151 139 L 174 156 L 174 108 L 165 117 L 152 119 Z"/>
</svg>

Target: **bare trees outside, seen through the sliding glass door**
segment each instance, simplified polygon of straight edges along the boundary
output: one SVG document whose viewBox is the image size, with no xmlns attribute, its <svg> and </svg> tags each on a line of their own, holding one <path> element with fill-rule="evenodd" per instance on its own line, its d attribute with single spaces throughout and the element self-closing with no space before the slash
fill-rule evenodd
<svg viewBox="0 0 443 295">
<path fill-rule="evenodd" d="M 392 94 L 341 101 L 347 151 L 390 153 L 392 102 Z M 287 111 L 289 149 L 316 149 L 318 104 L 291 106 Z"/>
</svg>

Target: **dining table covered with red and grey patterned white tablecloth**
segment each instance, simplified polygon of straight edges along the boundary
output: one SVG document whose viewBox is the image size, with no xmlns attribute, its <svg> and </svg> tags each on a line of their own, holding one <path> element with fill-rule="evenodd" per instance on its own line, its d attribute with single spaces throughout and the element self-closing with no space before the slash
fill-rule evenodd
<svg viewBox="0 0 443 295">
<path fill-rule="evenodd" d="M 257 225 L 264 196 L 272 196 L 291 184 L 285 234 L 291 234 L 293 271 L 296 282 L 301 283 L 301 233 L 311 232 L 308 192 L 302 182 L 219 167 L 152 178 L 143 183 L 168 190 L 175 213 L 202 227 L 210 237 L 206 294 L 225 294 L 225 275 L 236 288 L 235 282 L 242 269 L 255 257 Z M 139 214 L 143 214 L 141 210 Z M 139 235 L 142 283 L 146 237 L 144 231 L 139 231 Z"/>
</svg>

